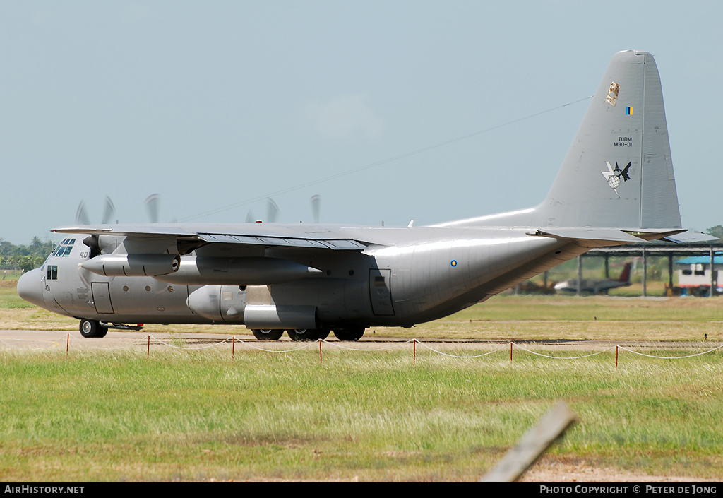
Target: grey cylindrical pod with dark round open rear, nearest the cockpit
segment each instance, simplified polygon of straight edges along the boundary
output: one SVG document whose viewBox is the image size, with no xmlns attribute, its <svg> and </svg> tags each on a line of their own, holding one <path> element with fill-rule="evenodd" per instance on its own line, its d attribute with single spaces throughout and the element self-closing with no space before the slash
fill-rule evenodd
<svg viewBox="0 0 723 498">
<path fill-rule="evenodd" d="M 173 254 L 101 254 L 80 263 L 106 277 L 157 277 L 178 271 L 181 257 Z"/>
</svg>

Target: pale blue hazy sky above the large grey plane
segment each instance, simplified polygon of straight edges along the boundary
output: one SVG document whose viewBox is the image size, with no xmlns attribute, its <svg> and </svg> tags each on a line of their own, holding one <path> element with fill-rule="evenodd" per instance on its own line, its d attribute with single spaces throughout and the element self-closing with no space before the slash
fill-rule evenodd
<svg viewBox="0 0 723 498">
<path fill-rule="evenodd" d="M 500 125 L 591 96 L 625 49 L 659 68 L 683 226 L 723 224 L 722 17 L 716 1 L 0 0 L 0 237 L 49 237 L 80 201 L 100 222 L 106 195 L 121 222 L 148 221 L 153 193 L 161 221 L 264 219 L 267 197 L 278 221 L 312 221 L 315 194 L 330 223 L 534 206 L 589 101 Z"/>
</svg>

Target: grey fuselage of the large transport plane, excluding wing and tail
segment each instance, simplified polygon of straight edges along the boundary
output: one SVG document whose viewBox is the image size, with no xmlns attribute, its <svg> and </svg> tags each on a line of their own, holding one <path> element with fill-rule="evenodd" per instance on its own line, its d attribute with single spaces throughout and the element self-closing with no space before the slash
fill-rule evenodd
<svg viewBox="0 0 723 498">
<path fill-rule="evenodd" d="M 486 300 L 583 252 L 570 242 L 531 237 L 524 229 L 344 230 L 350 237 L 372 241 L 369 248 L 328 250 L 328 254 L 303 248 L 264 248 L 256 258 L 321 270 L 268 285 L 245 278 L 242 270 L 236 277 L 228 274 L 229 261 L 247 258 L 229 256 L 234 250 L 231 245 L 215 246 L 213 253 L 200 248 L 181 257 L 181 269 L 185 265 L 195 269 L 203 262 L 208 269 L 203 279 L 207 285 L 182 282 L 173 273 L 106 277 L 80 266 L 90 258 L 90 250 L 82 242 L 85 236 L 79 235 L 69 253 L 49 256 L 42 269 L 26 274 L 19 290 L 23 297 L 31 295 L 29 300 L 56 313 L 108 323 L 244 324 L 247 306 L 254 311 L 254 305 L 275 305 L 288 307 L 291 313 L 291 322 L 279 323 L 279 328 L 295 324 L 297 311 L 329 328 L 411 326 Z M 214 278 L 218 284 L 210 281 Z M 231 284 L 234 278 L 236 283 Z M 273 280 L 273 271 L 268 278 Z M 266 323 L 261 321 L 260 326 Z"/>
</svg>

